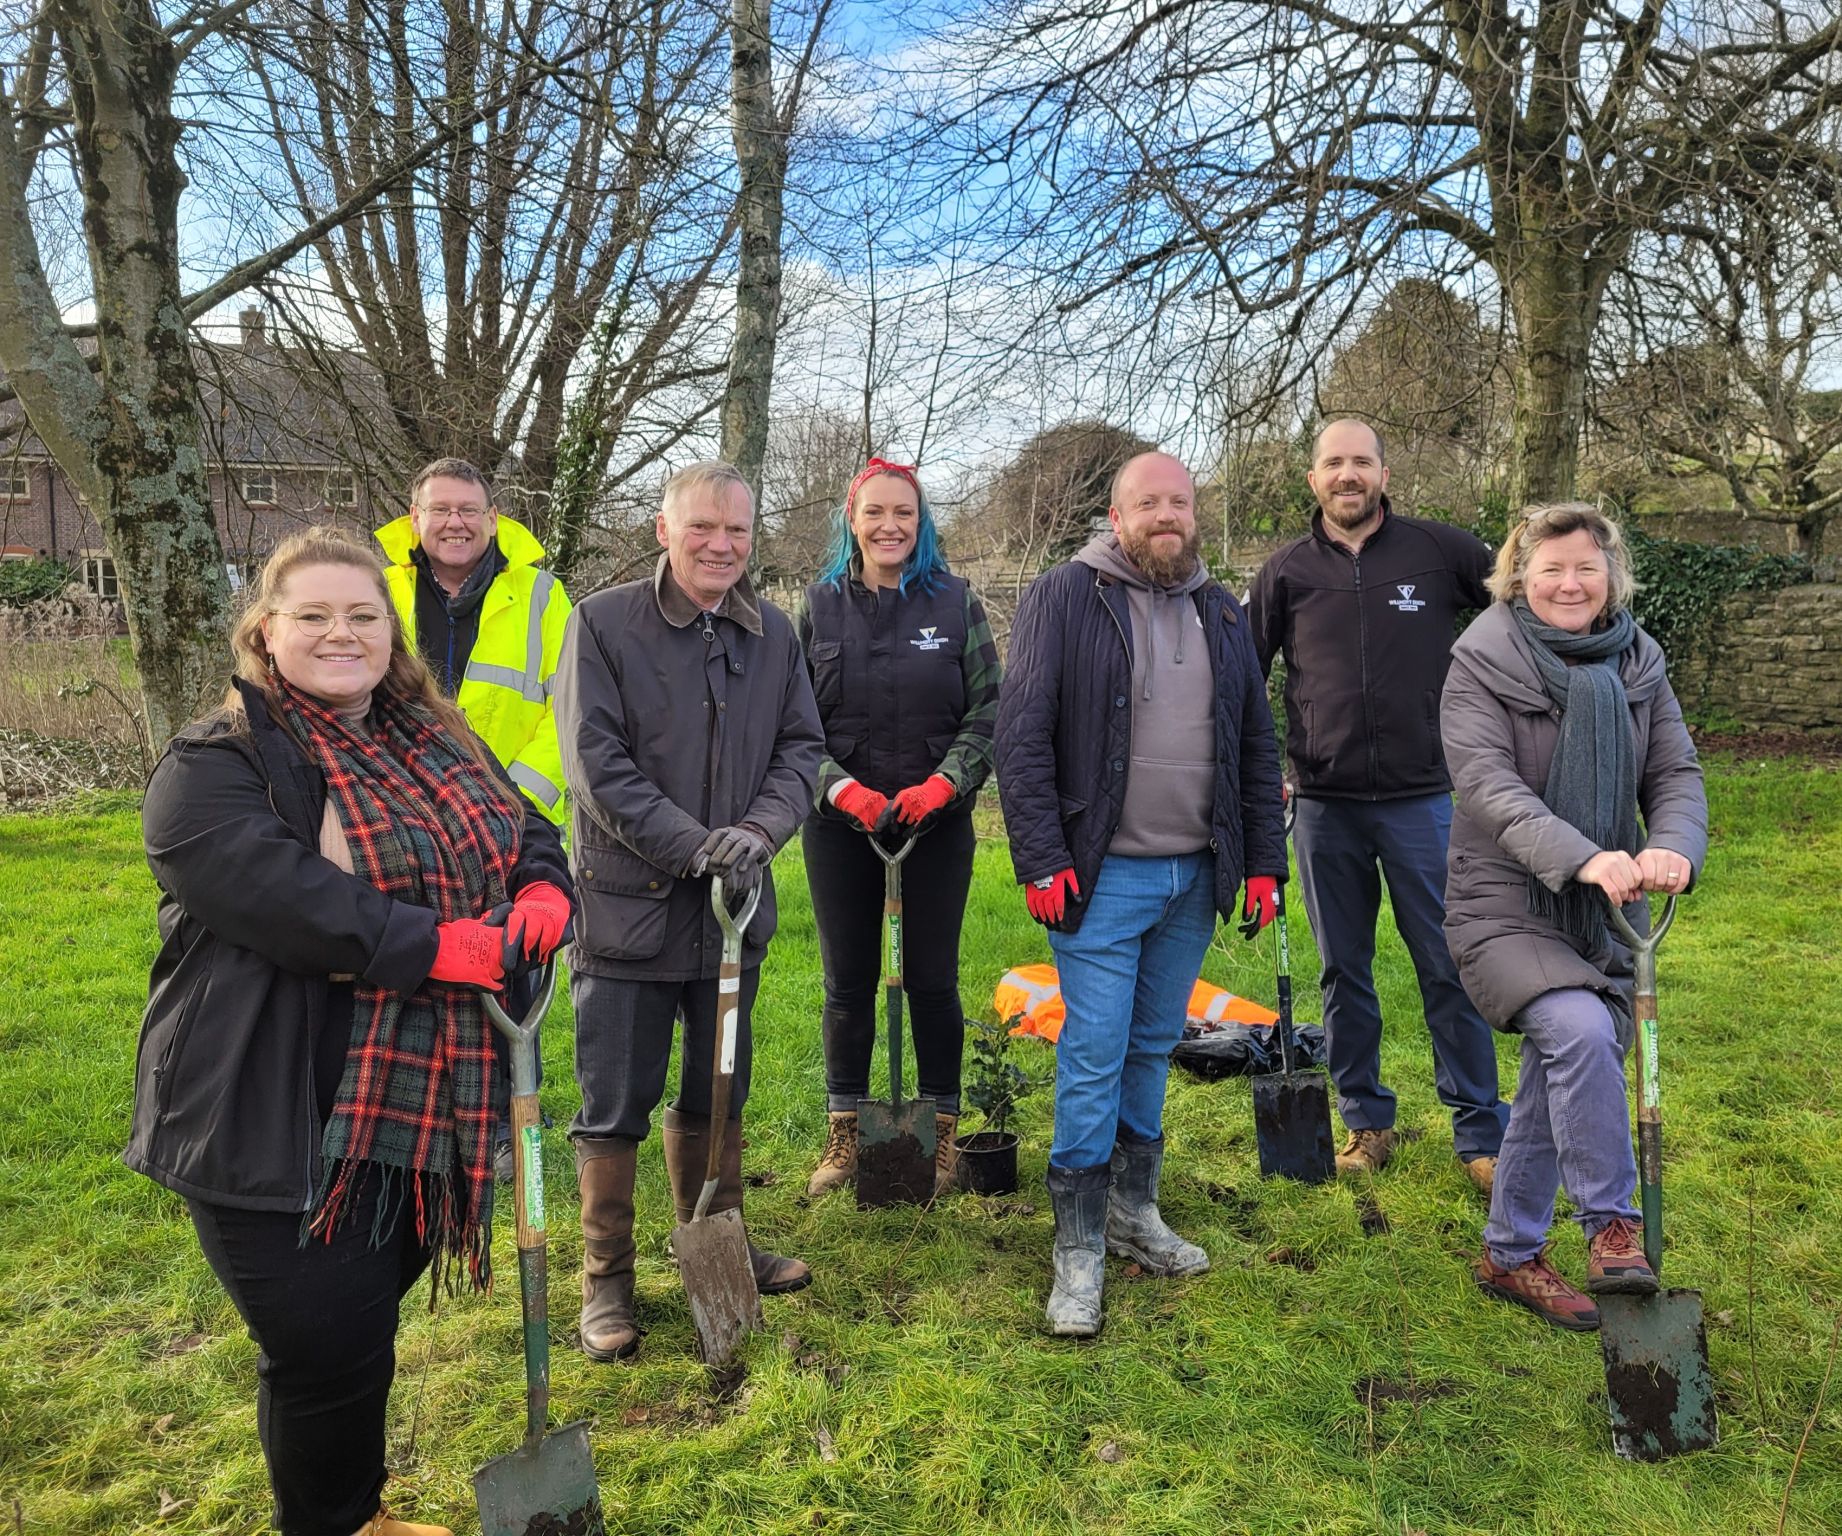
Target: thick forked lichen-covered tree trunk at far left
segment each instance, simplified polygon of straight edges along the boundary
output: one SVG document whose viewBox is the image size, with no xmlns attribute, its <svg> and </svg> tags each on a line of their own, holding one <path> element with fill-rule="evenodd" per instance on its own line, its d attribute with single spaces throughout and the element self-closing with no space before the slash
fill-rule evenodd
<svg viewBox="0 0 1842 1536">
<path fill-rule="evenodd" d="M 66 0 L 55 9 L 77 64 L 70 92 L 99 379 L 57 326 L 11 142 L 0 145 L 11 162 L 0 177 L 0 219 L 20 227 L 0 239 L 0 262 L 24 284 L 0 304 L 0 365 L 33 429 L 96 506 L 147 727 L 160 744 L 223 687 L 230 623 L 179 287 L 179 55 L 147 0 Z"/>
</svg>

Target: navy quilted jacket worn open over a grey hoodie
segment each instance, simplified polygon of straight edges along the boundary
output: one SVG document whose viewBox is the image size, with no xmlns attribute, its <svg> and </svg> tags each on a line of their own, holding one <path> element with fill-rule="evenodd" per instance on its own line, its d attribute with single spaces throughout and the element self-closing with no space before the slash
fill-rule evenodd
<svg viewBox="0 0 1842 1536">
<path fill-rule="evenodd" d="M 1286 879 L 1278 746 L 1240 604 L 1219 582 L 1192 595 L 1216 676 L 1216 910 L 1249 875 Z M 1068 562 L 1024 593 L 998 704 L 998 799 L 1020 882 L 1074 869 L 1090 891 L 1125 807 L 1133 744 L 1133 621 L 1125 588 Z M 1061 928 L 1081 926 L 1070 902 Z"/>
</svg>

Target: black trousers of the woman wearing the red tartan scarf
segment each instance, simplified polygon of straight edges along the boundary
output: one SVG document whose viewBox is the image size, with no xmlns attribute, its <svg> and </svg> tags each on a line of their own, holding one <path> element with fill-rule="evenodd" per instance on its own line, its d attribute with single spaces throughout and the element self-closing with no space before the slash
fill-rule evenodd
<svg viewBox="0 0 1842 1536">
<path fill-rule="evenodd" d="M 414 1212 L 370 1245 L 378 1179 L 324 1243 L 298 1212 L 186 1201 L 204 1260 L 256 1341 L 256 1435 L 282 1536 L 352 1536 L 383 1494 L 398 1304 L 429 1265 Z"/>
</svg>

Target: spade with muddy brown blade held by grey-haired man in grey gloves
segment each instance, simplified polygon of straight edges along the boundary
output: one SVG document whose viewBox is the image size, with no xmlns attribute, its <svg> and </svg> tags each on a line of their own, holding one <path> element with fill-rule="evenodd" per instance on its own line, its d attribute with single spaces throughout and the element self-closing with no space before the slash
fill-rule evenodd
<svg viewBox="0 0 1842 1536">
<path fill-rule="evenodd" d="M 755 1271 L 748 1262 L 742 1212 L 709 1214 L 722 1169 L 722 1144 L 729 1135 L 737 1015 L 742 1006 L 742 930 L 755 915 L 759 901 L 761 886 L 755 886 L 742 910 L 731 913 L 722 877 L 709 882 L 709 904 L 717 913 L 717 926 L 722 928 L 722 967 L 717 971 L 717 1065 L 709 1088 L 709 1164 L 691 1219 L 672 1228 L 672 1254 L 678 1258 L 685 1298 L 691 1302 L 698 1357 L 713 1368 L 728 1365 L 748 1332 L 761 1326 L 761 1293 L 755 1289 Z"/>
</svg>

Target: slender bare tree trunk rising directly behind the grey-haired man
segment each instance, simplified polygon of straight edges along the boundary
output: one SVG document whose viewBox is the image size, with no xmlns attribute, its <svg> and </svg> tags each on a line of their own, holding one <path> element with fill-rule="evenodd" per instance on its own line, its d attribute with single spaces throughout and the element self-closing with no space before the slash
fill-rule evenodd
<svg viewBox="0 0 1842 1536">
<path fill-rule="evenodd" d="M 742 254 L 729 385 L 722 398 L 722 457 L 742 471 L 757 503 L 781 315 L 781 193 L 787 182 L 787 131 L 774 109 L 772 11 L 772 0 L 735 0 L 729 39 Z"/>
</svg>

